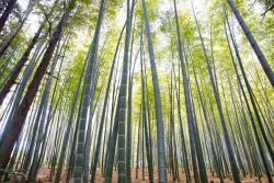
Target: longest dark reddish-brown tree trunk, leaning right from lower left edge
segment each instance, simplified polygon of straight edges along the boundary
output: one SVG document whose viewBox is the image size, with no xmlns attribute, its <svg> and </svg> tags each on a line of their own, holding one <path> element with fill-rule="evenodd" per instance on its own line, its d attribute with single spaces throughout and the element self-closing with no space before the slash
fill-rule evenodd
<svg viewBox="0 0 274 183">
<path fill-rule="evenodd" d="M 57 42 L 60 39 L 61 31 L 66 24 L 66 20 L 70 11 L 75 7 L 75 0 L 71 0 L 69 3 L 69 7 L 67 10 L 65 10 L 62 19 L 58 23 L 56 31 L 53 34 L 53 37 L 49 42 L 49 45 L 44 54 L 44 57 L 34 75 L 34 79 L 32 80 L 31 84 L 27 88 L 27 91 L 18 108 L 18 111 L 14 114 L 14 117 L 12 119 L 12 127 L 11 130 L 8 133 L 7 138 L 3 139 L 3 142 L 0 147 L 0 168 L 5 169 L 13 146 L 19 137 L 19 134 L 24 125 L 24 121 L 26 118 L 27 112 L 30 110 L 30 106 L 33 103 L 34 96 L 37 93 L 39 83 L 44 77 L 44 73 L 47 69 L 47 66 L 49 65 L 49 60 L 53 56 L 54 49 L 56 47 Z"/>
</svg>

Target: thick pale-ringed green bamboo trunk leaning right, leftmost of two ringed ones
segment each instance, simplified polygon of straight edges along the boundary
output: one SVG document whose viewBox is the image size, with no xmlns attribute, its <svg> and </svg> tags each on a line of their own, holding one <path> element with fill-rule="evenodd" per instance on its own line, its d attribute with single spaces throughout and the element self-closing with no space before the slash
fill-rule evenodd
<svg viewBox="0 0 274 183">
<path fill-rule="evenodd" d="M 84 144 L 90 146 L 90 139 L 85 139 L 85 124 L 88 121 L 88 107 L 89 104 L 91 112 L 93 111 L 93 102 L 94 102 L 94 90 L 95 90 L 95 72 L 98 70 L 96 68 L 96 56 L 98 56 L 98 46 L 99 46 L 99 37 L 102 26 L 102 21 L 104 16 L 104 7 L 105 1 L 101 0 L 100 10 L 99 10 L 99 16 L 96 22 L 96 28 L 94 32 L 94 36 L 90 46 L 89 54 L 85 59 L 88 59 L 88 68 L 85 73 L 85 81 L 83 85 L 83 102 L 81 105 L 81 114 L 80 114 L 80 128 L 78 129 L 78 141 L 77 141 L 77 152 L 76 152 L 76 168 L 75 168 L 75 176 L 73 182 L 80 183 L 82 180 L 82 171 L 84 170 L 84 182 L 88 182 L 88 172 L 89 172 L 89 155 L 84 155 L 85 152 L 90 152 L 89 147 L 84 147 Z M 92 92 L 91 92 L 92 91 Z M 92 95 L 91 95 L 92 94 Z M 93 115 L 93 114 L 92 114 Z M 92 121 L 93 116 L 90 116 L 90 121 Z M 91 122 L 90 122 L 91 123 Z M 89 125 L 90 126 L 90 125 Z M 90 128 L 91 129 L 91 128 Z M 90 138 L 91 131 L 87 131 L 88 136 Z"/>
</svg>

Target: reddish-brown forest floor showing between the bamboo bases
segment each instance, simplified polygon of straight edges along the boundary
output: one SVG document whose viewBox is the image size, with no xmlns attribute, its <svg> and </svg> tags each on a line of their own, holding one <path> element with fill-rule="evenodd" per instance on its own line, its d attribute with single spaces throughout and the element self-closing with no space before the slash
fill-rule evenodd
<svg viewBox="0 0 274 183">
<path fill-rule="evenodd" d="M 38 172 L 36 183 L 50 182 L 49 181 L 49 174 L 50 174 L 50 170 L 46 165 L 42 167 L 42 169 Z M 218 183 L 218 182 L 220 182 L 218 178 L 213 176 L 212 173 L 209 173 L 209 172 L 207 173 L 207 176 L 208 176 L 208 182 L 209 183 Z M 145 171 L 145 180 L 144 181 L 142 181 L 142 172 L 141 172 L 141 170 L 138 171 L 138 179 L 136 179 L 136 170 L 135 169 L 132 170 L 132 182 L 133 183 L 149 182 L 148 179 L 149 178 L 148 178 L 148 171 L 147 170 Z M 157 173 L 157 171 L 155 171 L 153 180 L 155 180 L 156 183 L 158 182 L 158 173 Z M 52 182 L 54 182 L 54 176 L 53 176 Z M 60 183 L 65 183 L 65 182 L 66 182 L 66 174 L 62 173 L 61 179 L 60 179 Z M 73 182 L 72 179 L 70 180 L 70 182 Z M 96 180 L 95 180 L 95 182 L 98 182 L 98 183 L 101 183 L 101 182 L 103 183 L 104 182 L 104 178 L 101 176 L 101 169 L 100 168 L 96 170 Z M 117 173 L 116 172 L 113 172 L 112 182 L 113 183 L 117 182 Z M 180 172 L 180 181 L 172 181 L 172 176 L 170 174 L 168 174 L 168 182 L 169 183 L 172 183 L 172 182 L 174 182 L 174 183 L 176 183 L 176 182 L 184 183 L 184 182 L 186 182 L 185 181 L 185 174 Z M 232 183 L 232 180 L 231 180 L 231 178 L 227 178 L 227 179 L 225 179 L 225 182 L 226 183 Z M 259 182 L 259 178 L 258 176 L 250 178 L 249 175 L 247 175 L 246 178 L 241 176 L 241 182 L 242 183 L 256 183 L 256 182 Z M 266 178 L 265 176 L 261 178 L 261 182 L 266 183 L 267 182 Z"/>
</svg>

